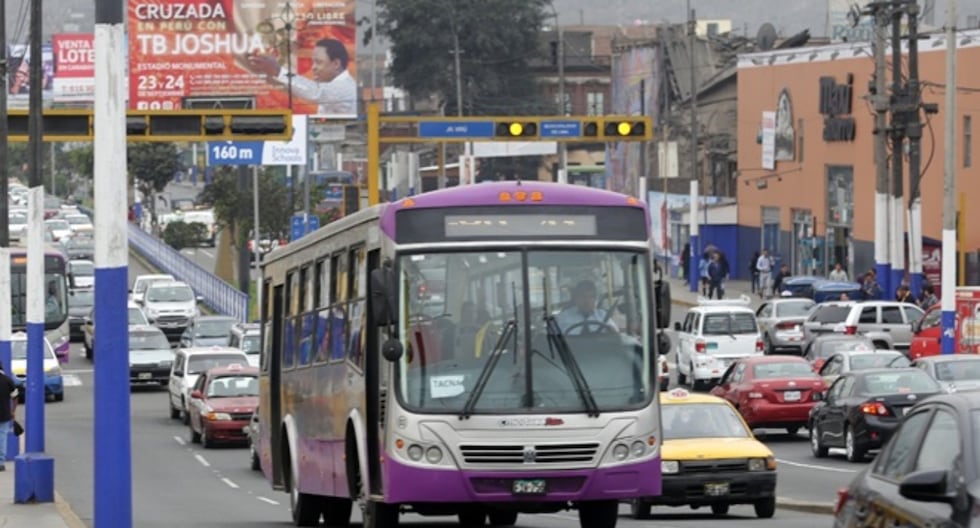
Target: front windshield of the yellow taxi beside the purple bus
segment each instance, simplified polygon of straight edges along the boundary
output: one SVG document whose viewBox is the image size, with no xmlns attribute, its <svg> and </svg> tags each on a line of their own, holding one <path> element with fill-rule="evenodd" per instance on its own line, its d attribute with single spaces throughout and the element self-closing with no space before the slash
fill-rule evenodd
<svg viewBox="0 0 980 528">
<path fill-rule="evenodd" d="M 725 403 L 663 406 L 664 440 L 686 438 L 747 438 L 751 433 Z"/>
</svg>

